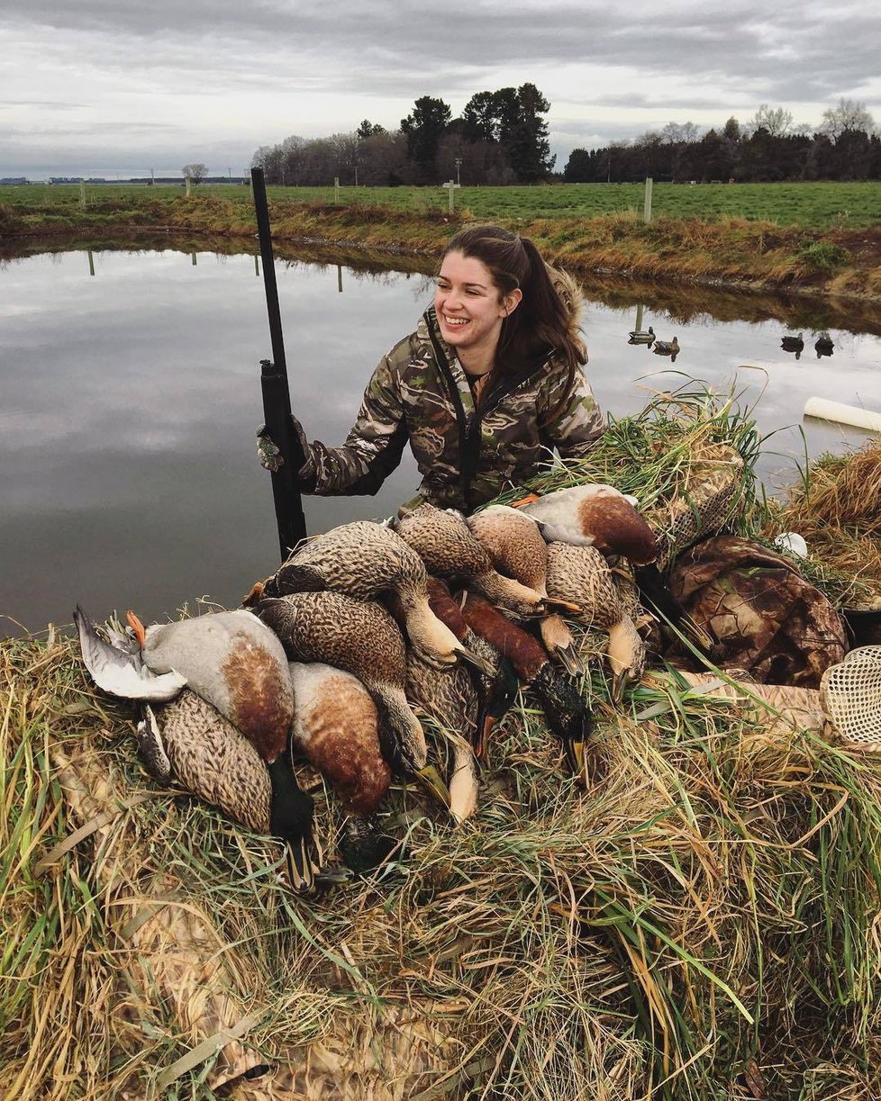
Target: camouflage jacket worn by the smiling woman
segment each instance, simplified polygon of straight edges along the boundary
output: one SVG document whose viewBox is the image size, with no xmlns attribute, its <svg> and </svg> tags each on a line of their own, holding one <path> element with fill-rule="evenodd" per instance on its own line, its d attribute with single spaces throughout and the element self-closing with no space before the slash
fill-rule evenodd
<svg viewBox="0 0 881 1101">
<path fill-rule="evenodd" d="M 522 482 L 550 458 L 551 448 L 577 458 L 602 433 L 602 414 L 584 373 L 576 371 L 568 391 L 566 382 L 566 366 L 552 353 L 519 374 L 496 379 L 476 407 L 429 306 L 416 331 L 380 360 L 346 443 L 308 445 L 301 488 L 324 495 L 376 493 L 409 442 L 422 475 L 420 494 L 468 513 Z"/>
</svg>

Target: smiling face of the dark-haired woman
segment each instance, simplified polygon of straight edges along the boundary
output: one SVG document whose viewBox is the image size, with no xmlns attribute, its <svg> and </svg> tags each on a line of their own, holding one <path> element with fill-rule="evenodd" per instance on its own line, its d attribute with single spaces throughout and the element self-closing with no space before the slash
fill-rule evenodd
<svg viewBox="0 0 881 1101">
<path fill-rule="evenodd" d="M 520 291 L 502 297 L 482 261 L 461 252 L 449 252 L 440 265 L 434 294 L 440 335 L 456 349 L 464 363 L 470 360 L 482 366 L 480 358 L 489 357 L 487 367 L 491 367 L 502 319 L 516 307 L 521 297 Z"/>
</svg>

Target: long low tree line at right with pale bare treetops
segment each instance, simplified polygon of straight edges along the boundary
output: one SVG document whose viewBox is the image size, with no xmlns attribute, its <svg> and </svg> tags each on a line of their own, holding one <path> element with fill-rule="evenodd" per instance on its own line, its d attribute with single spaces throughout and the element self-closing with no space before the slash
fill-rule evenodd
<svg viewBox="0 0 881 1101">
<path fill-rule="evenodd" d="M 670 122 L 632 142 L 575 149 L 563 170 L 566 183 L 773 183 L 801 179 L 881 178 L 881 137 L 864 105 L 842 99 L 816 128 L 794 126 L 784 107 L 763 103 L 741 127 L 730 118 L 700 135 L 692 123 Z"/>
</svg>

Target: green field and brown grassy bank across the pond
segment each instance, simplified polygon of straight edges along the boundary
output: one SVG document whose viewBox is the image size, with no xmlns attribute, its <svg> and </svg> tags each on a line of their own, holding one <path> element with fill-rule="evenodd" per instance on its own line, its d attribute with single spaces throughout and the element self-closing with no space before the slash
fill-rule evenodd
<svg viewBox="0 0 881 1101">
<path fill-rule="evenodd" d="M 762 203 L 752 194 L 760 185 L 732 185 L 717 188 L 710 203 L 715 185 L 667 185 L 676 201 L 671 199 L 670 212 L 664 212 L 663 201 L 656 201 L 655 217 L 648 225 L 637 212 L 641 199 L 633 201 L 641 189 L 628 193 L 626 185 L 609 186 L 612 190 L 603 192 L 601 185 L 594 185 L 592 190 L 587 185 L 463 188 L 460 208 L 453 215 L 445 208 L 445 195 L 438 196 L 435 188 L 389 188 L 380 196 L 373 189 L 344 188 L 339 204 L 328 201 L 333 189 L 311 196 L 304 194 L 306 189 L 272 188 L 271 217 L 280 243 L 320 242 L 425 255 L 435 255 L 464 221 L 492 219 L 529 235 L 548 258 L 584 274 L 785 288 L 842 302 L 881 297 L 881 204 L 870 209 L 873 195 L 881 197 L 881 186 L 872 192 L 875 185 L 871 184 L 762 185 L 817 188 L 804 192 L 803 197 L 769 192 L 774 197 Z M 853 192 L 852 199 L 844 198 L 844 192 L 828 190 L 849 187 L 864 190 Z M 657 190 L 664 194 L 663 188 Z M 728 205 L 738 208 L 733 212 L 725 212 L 722 206 L 729 193 Z M 819 199 L 836 194 L 838 198 L 829 199 L 820 216 Z M 567 195 L 572 197 L 568 205 Z M 689 209 L 683 204 L 692 195 L 696 206 Z M 607 206 L 599 205 L 600 196 Z M 387 205 L 377 205 L 378 197 Z M 557 200 L 559 205 L 552 209 L 548 204 Z M 779 220 L 757 217 L 763 209 Z M 251 242 L 254 217 L 248 189 L 200 189 L 187 198 L 173 187 L 93 187 L 86 189 L 85 206 L 77 187 L 0 189 L 0 240 L 7 244 L 72 231 L 107 235 L 160 229 Z"/>
</svg>

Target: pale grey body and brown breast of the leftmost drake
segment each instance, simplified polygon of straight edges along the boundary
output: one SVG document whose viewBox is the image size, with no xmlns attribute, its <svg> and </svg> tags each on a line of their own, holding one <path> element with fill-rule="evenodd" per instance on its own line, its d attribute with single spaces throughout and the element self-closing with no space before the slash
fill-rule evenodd
<svg viewBox="0 0 881 1101">
<path fill-rule="evenodd" d="M 268 763 L 284 752 L 294 694 L 284 648 L 265 624 L 241 610 L 148 628 L 134 612 L 127 618 L 149 669 L 183 676 Z"/>
</svg>

